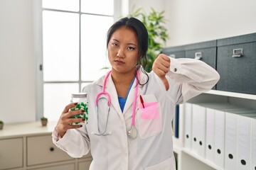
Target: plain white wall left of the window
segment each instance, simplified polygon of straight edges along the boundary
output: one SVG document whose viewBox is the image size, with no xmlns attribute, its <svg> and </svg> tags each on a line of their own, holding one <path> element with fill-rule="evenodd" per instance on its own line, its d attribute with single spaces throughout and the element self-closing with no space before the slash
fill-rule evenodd
<svg viewBox="0 0 256 170">
<path fill-rule="evenodd" d="M 0 0 L 0 81 L 0 120 L 35 120 L 33 0 Z"/>
</svg>

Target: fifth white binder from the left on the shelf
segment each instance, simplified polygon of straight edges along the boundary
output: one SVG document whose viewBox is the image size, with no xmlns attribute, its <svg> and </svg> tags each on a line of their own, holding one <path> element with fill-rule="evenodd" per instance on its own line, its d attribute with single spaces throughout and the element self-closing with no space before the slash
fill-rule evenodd
<svg viewBox="0 0 256 170">
<path fill-rule="evenodd" d="M 225 112 L 228 111 L 243 111 L 246 108 L 239 108 L 238 106 L 232 106 L 233 108 L 218 109 L 215 110 L 215 129 L 214 129 L 214 164 L 220 169 L 224 169 L 225 166 Z"/>
</svg>

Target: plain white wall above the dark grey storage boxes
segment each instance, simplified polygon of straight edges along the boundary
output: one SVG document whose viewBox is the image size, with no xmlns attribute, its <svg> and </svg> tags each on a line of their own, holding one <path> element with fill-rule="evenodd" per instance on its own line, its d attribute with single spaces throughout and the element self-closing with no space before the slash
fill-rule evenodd
<svg viewBox="0 0 256 170">
<path fill-rule="evenodd" d="M 164 6 L 167 46 L 256 33 L 255 0 L 166 0 Z"/>
</svg>

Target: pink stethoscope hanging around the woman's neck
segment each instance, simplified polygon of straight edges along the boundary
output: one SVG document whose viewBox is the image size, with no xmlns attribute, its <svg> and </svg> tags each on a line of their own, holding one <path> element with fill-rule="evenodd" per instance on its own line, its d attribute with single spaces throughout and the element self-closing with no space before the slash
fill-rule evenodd
<svg viewBox="0 0 256 170">
<path fill-rule="evenodd" d="M 96 107 L 96 114 L 97 114 L 97 129 L 98 129 L 98 132 L 99 133 L 95 133 L 95 132 L 92 132 L 92 134 L 94 135 L 98 135 L 98 136 L 107 136 L 107 135 L 112 135 L 112 132 L 106 132 L 107 130 L 107 123 L 108 123 L 108 118 L 109 118 L 109 114 L 110 114 L 110 104 L 111 104 L 111 98 L 110 98 L 110 94 L 107 93 L 106 91 L 106 84 L 107 84 L 107 79 L 108 77 L 110 77 L 110 72 L 107 73 L 107 76 L 105 77 L 104 79 L 104 83 L 103 83 L 103 87 L 102 87 L 102 92 L 100 92 L 99 94 L 97 94 L 96 96 L 96 99 L 95 99 L 95 107 Z M 135 124 L 135 112 L 136 112 L 136 104 L 137 104 L 137 96 L 138 96 L 138 90 L 139 90 L 139 82 L 138 82 L 138 79 L 139 79 L 139 72 L 137 71 L 137 83 L 136 83 L 136 89 L 135 89 L 135 92 L 134 92 L 134 101 L 133 101 L 133 110 L 132 110 L 132 128 L 129 129 L 127 131 L 127 135 L 129 137 L 131 137 L 132 139 L 135 139 L 138 135 L 138 131 L 137 129 L 134 127 L 134 124 Z M 103 130 L 103 132 L 100 130 L 99 128 L 99 114 L 98 114 L 98 111 L 97 111 L 97 108 L 98 108 L 98 101 L 101 99 L 100 96 L 107 96 L 107 123 L 105 125 L 105 130 Z"/>
</svg>

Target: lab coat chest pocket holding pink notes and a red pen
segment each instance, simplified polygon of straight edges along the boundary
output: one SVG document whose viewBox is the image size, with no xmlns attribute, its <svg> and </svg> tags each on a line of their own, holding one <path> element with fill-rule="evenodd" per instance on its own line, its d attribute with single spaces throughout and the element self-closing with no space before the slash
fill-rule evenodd
<svg viewBox="0 0 256 170">
<path fill-rule="evenodd" d="M 139 137 L 145 139 L 159 134 L 162 130 L 161 114 L 158 102 L 139 104 Z"/>
</svg>

